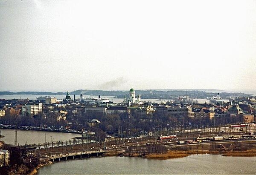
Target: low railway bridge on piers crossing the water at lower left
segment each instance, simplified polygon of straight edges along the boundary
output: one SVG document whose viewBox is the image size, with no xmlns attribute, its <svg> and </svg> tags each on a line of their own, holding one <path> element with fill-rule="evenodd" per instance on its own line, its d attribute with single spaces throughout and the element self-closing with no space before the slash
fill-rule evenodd
<svg viewBox="0 0 256 175">
<path fill-rule="evenodd" d="M 96 151 L 86 151 L 86 152 L 72 152 L 72 153 L 60 153 L 60 154 L 52 154 L 52 155 L 42 155 L 41 160 L 48 160 L 48 161 L 61 161 L 67 159 L 74 159 L 74 158 L 84 158 L 84 157 L 91 157 L 91 156 L 99 156 L 102 155 L 107 151 L 105 150 L 96 150 Z"/>
</svg>

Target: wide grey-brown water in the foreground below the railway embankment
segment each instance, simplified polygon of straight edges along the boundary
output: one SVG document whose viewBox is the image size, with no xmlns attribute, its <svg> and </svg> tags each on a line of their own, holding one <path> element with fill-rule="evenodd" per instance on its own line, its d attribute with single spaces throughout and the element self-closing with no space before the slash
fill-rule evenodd
<svg viewBox="0 0 256 175">
<path fill-rule="evenodd" d="M 185 158 L 151 160 L 130 157 L 85 158 L 44 166 L 46 174 L 255 174 L 256 157 L 190 155 Z"/>
</svg>

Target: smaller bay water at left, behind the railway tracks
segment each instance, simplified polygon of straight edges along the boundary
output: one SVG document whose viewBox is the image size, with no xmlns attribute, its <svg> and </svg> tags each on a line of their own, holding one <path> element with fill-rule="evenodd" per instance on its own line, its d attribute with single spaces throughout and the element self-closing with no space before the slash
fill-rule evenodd
<svg viewBox="0 0 256 175">
<path fill-rule="evenodd" d="M 15 129 L 0 129 L 1 135 L 5 138 L 0 138 L 0 141 L 4 141 L 8 144 L 15 142 Z M 33 130 L 17 130 L 17 143 L 20 145 L 33 144 L 33 143 L 45 143 L 52 141 L 69 141 L 80 134 L 63 133 L 63 132 L 45 132 L 45 131 L 33 131 Z"/>
</svg>

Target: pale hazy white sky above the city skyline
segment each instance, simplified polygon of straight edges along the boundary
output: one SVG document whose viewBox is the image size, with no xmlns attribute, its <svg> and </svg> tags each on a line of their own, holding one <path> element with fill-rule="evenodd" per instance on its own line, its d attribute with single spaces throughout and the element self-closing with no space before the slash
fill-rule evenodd
<svg viewBox="0 0 256 175">
<path fill-rule="evenodd" d="M 0 0 L 0 91 L 256 89 L 256 0 Z"/>
</svg>

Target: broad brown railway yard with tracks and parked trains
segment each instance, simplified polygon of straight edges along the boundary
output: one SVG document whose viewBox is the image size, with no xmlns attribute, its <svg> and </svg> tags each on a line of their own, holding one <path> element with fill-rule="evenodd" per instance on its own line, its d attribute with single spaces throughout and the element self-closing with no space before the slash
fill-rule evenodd
<svg viewBox="0 0 256 175">
<path fill-rule="evenodd" d="M 157 144 L 165 146 L 168 151 L 210 151 L 210 152 L 244 152 L 256 150 L 255 125 L 229 126 L 219 128 L 191 129 L 173 133 L 159 132 L 153 136 L 139 138 L 109 138 L 105 142 L 81 143 L 78 141 L 70 145 L 60 146 L 53 144 L 47 148 L 37 150 L 41 158 L 50 155 L 72 154 L 76 152 L 105 151 L 120 155 L 120 152 L 131 150 L 141 155 L 146 146 Z M 108 155 L 106 153 L 106 155 Z"/>
</svg>

